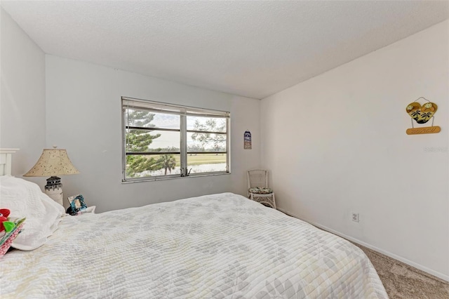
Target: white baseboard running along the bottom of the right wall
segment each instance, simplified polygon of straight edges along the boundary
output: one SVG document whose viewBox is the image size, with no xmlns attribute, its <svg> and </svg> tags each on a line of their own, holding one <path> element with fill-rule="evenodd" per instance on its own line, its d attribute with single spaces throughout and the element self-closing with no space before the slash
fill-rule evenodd
<svg viewBox="0 0 449 299">
<path fill-rule="evenodd" d="M 337 236 L 340 236 L 340 237 L 342 237 L 344 239 L 347 239 L 349 241 L 353 241 L 354 243 L 360 244 L 361 246 L 365 246 L 367 248 L 373 249 L 373 251 L 377 251 L 379 253 L 382 253 L 384 255 L 389 256 L 390 258 L 394 258 L 395 260 L 399 260 L 402 263 L 406 263 L 407 265 L 410 265 L 410 266 L 415 267 L 415 268 L 417 268 L 419 270 L 422 270 L 422 271 L 427 272 L 427 273 L 429 273 L 431 275 L 434 275 L 434 276 L 438 277 L 439 279 L 443 279 L 445 281 L 449 281 L 449 276 L 448 275 L 445 275 L 443 273 L 431 270 L 428 267 L 424 267 L 423 265 L 417 264 L 417 263 L 415 263 L 415 262 L 413 262 L 411 260 L 407 260 L 406 258 L 402 258 L 401 256 L 396 255 L 394 253 L 391 253 L 389 251 L 384 251 L 382 248 L 377 248 L 376 246 L 368 244 L 368 243 L 366 243 L 364 241 L 360 241 L 360 240 L 358 240 L 358 239 L 356 239 L 354 237 L 348 236 L 347 234 L 342 234 L 341 232 L 337 232 L 336 230 L 333 230 L 333 229 L 331 229 L 329 227 L 326 227 L 324 225 L 320 225 L 319 223 L 316 223 L 316 222 L 313 222 L 313 221 L 310 221 L 310 220 L 307 220 L 307 219 L 304 219 L 304 218 L 300 218 L 300 217 L 298 217 L 297 215 L 295 215 L 293 213 L 290 213 L 288 211 L 283 210 L 283 208 L 277 208 L 277 209 L 279 211 L 281 211 L 282 213 L 285 213 L 285 214 L 290 215 L 290 216 L 292 216 L 294 218 L 300 219 L 300 220 L 305 221 L 305 222 L 307 222 L 307 223 L 309 223 L 311 225 L 319 227 L 319 228 L 321 228 L 321 230 L 326 230 L 326 232 L 331 232 L 331 233 L 336 234 Z"/>
</svg>

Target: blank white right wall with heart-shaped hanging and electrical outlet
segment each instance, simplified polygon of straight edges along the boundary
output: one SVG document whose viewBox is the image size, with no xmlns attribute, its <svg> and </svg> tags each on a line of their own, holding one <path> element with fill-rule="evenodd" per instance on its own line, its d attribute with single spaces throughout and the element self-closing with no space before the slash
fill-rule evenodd
<svg viewBox="0 0 449 299">
<path fill-rule="evenodd" d="M 446 280 L 448 28 L 442 22 L 261 105 L 261 161 L 280 208 Z M 441 133 L 406 135 L 406 106 L 420 96 L 438 105 Z"/>
</svg>

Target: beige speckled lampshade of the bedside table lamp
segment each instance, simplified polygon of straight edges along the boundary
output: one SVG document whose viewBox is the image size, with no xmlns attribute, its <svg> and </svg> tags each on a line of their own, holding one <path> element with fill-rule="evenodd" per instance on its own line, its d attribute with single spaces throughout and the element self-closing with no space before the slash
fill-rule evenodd
<svg viewBox="0 0 449 299">
<path fill-rule="evenodd" d="M 36 165 L 23 176 L 57 176 L 76 173 L 79 171 L 73 166 L 66 150 L 44 149 Z"/>
</svg>

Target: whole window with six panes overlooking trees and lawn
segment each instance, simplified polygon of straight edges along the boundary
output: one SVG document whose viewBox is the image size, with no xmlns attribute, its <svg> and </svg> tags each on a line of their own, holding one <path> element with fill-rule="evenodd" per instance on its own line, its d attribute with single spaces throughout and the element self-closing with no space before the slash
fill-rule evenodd
<svg viewBox="0 0 449 299">
<path fill-rule="evenodd" d="M 229 112 L 121 98 L 123 182 L 229 173 Z"/>
</svg>

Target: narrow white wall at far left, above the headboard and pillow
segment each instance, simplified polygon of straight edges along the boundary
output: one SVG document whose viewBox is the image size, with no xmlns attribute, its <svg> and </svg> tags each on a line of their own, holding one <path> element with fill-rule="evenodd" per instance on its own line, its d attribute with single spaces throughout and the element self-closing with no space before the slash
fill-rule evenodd
<svg viewBox="0 0 449 299">
<path fill-rule="evenodd" d="M 0 13 L 0 147 L 20 148 L 12 169 L 20 176 L 45 147 L 45 54 L 3 8 Z"/>
</svg>

